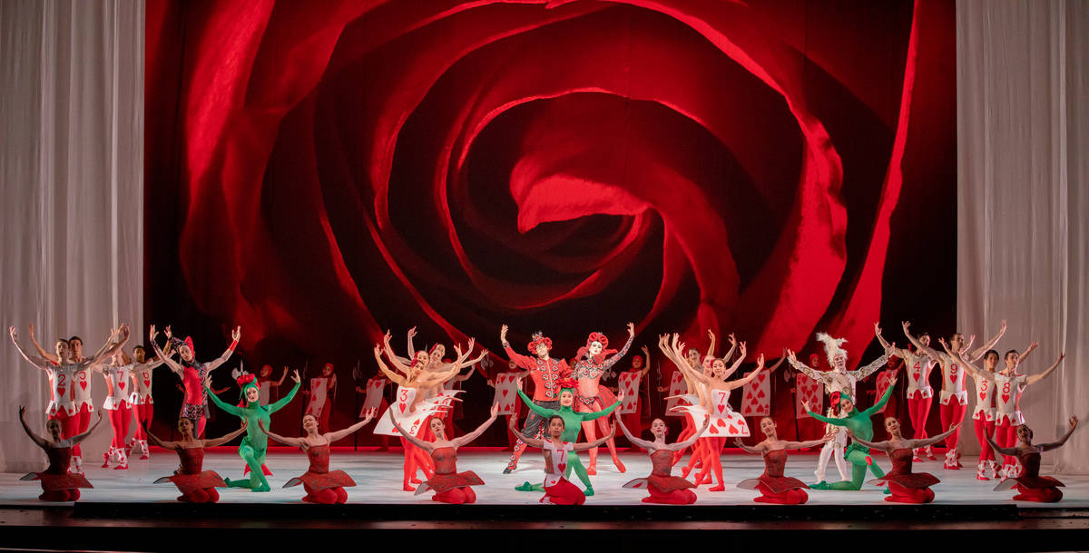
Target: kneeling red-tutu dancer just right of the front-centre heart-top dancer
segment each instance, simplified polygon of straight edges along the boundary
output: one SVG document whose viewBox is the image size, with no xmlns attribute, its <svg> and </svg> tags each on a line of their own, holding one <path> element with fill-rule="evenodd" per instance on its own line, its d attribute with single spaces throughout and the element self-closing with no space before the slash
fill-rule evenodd
<svg viewBox="0 0 1089 553">
<path fill-rule="evenodd" d="M 696 494 L 689 488 L 696 484 L 684 478 L 673 476 L 673 452 L 682 451 L 696 443 L 696 440 L 703 434 L 711 423 L 711 417 L 703 417 L 703 426 L 692 435 L 692 438 L 673 444 L 665 443 L 665 434 L 669 427 L 662 419 L 654 419 L 650 422 L 650 433 L 654 435 L 653 442 L 640 440 L 627 430 L 621 417 L 616 416 L 616 423 L 620 429 L 636 447 L 643 447 L 650 452 L 650 476 L 647 478 L 636 478 L 624 484 L 624 488 L 646 488 L 650 495 L 643 499 L 644 503 L 665 503 L 670 505 L 689 505 L 696 503 Z"/>
</svg>

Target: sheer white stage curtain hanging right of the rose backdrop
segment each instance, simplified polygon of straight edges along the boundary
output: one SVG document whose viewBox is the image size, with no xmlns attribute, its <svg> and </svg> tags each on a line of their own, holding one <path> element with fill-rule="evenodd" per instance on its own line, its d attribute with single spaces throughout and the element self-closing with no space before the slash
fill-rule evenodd
<svg viewBox="0 0 1089 553">
<path fill-rule="evenodd" d="M 1007 319 L 1000 354 L 1038 340 L 1030 374 L 1066 353 L 1021 401 L 1036 441 L 1051 441 L 1089 415 L 1089 2 L 962 0 L 956 12 L 957 323 L 981 336 Z M 962 443 L 978 450 L 970 425 Z M 1043 460 L 1089 474 L 1089 435 Z"/>
</svg>

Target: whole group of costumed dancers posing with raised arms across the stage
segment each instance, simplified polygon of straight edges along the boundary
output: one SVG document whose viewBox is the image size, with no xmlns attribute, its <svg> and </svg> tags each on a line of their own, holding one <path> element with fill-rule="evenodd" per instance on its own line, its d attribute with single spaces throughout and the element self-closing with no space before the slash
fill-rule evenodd
<svg viewBox="0 0 1089 553">
<path fill-rule="evenodd" d="M 946 454 L 945 466 L 951 469 L 957 468 L 956 434 L 967 401 L 964 390 L 965 374 L 967 373 L 976 380 L 976 389 L 979 394 L 974 418 L 976 418 L 977 435 L 988 445 L 984 447 L 984 452 L 993 448 L 999 454 L 1006 456 L 1008 466 L 1013 467 L 1003 468 L 1004 479 L 995 490 L 1016 488 L 1018 494 L 1014 499 L 1018 501 L 1059 501 L 1062 497 L 1059 487 L 1063 484 L 1054 478 L 1039 476 L 1040 453 L 1063 445 L 1077 426 L 1077 418 L 1070 417 L 1070 428 L 1059 441 L 1035 445 L 1032 432 L 1024 423 L 1024 417 L 1017 406 L 1024 390 L 1053 372 L 1062 362 L 1063 356 L 1060 355 L 1055 364 L 1040 374 L 1031 377 L 1020 374 L 1018 372 L 1020 362 L 1037 346 L 1033 342 L 1020 354 L 1016 351 L 1008 352 L 1005 356 L 1005 369 L 996 371 L 999 355 L 990 347 L 1005 331 L 1005 321 L 1003 321 L 999 335 L 977 351 L 970 351 L 972 340 L 966 341 L 959 333 L 951 336 L 949 342 L 944 339 L 940 340 L 944 353 L 930 347 L 929 336 L 925 334 L 918 337 L 913 336 L 908 327 L 907 322 L 903 323 L 905 336 L 915 346 L 914 349 L 911 347 L 897 348 L 894 344 L 890 344 L 882 336 L 880 327 L 874 325 L 877 339 L 884 347 L 884 354 L 870 365 L 854 371 L 846 370 L 846 352 L 842 347 L 845 341 L 842 339 L 832 339 L 823 333 L 817 335 L 818 340 L 824 344 L 829 365 L 832 367 L 829 371 L 813 370 L 799 362 L 794 352 L 785 351 L 785 359 L 795 369 L 822 382 L 825 391 L 830 394 L 828 415 L 813 413 L 809 410 L 808 403 L 805 405 L 810 417 L 828 425 L 827 432 L 817 440 L 784 441 L 778 438 L 775 421 L 771 417 L 763 417 L 759 420 L 759 426 L 764 440 L 755 446 L 748 446 L 739 440 L 741 437 L 749 435 L 747 423 L 744 417 L 730 406 L 729 396 L 732 390 L 752 381 L 757 374 L 764 370 L 764 358 L 762 354 L 757 356 L 756 368 L 747 376 L 736 380 L 727 380 L 747 357 L 744 342 L 738 344 L 731 336 L 732 347 L 724 357 L 713 358 L 709 356 L 710 358 L 700 362 L 698 352 L 686 349 L 677 334 L 659 337 L 659 348 L 676 366 L 687 386 L 687 393 L 669 398 L 676 402 L 676 405 L 672 407 L 673 410 L 684 413 L 685 428 L 677 442 L 666 443 L 668 429 L 661 419 L 654 419 L 650 425 L 652 441 L 633 435 L 620 416 L 616 417 L 615 425 L 608 423 L 608 417 L 624 401 L 624 392 L 621 391 L 619 395 L 614 396 L 608 388 L 600 385 L 600 379 L 627 353 L 635 337 L 634 324 L 628 323 L 627 341 L 620 351 L 609 348 L 609 340 L 604 334 L 591 333 L 587 337 L 586 344 L 578 349 L 573 367 L 563 359 L 554 359 L 550 356 L 551 340 L 540 332 L 535 333 L 527 345 L 533 356 L 517 354 L 507 342 L 507 327 L 503 325 L 500 331 L 503 348 L 511 359 L 512 366 L 522 369 L 515 374 L 515 378 L 529 377 L 535 383 L 533 398 L 521 389 L 516 390 L 517 395 L 530 409 L 530 414 L 521 431 L 516 428 L 515 417 L 509 417 L 509 427 L 518 438 L 518 444 L 504 474 L 516 467 L 518 456 L 527 445 L 539 447 L 544 454 L 546 462 L 543 482 L 540 484 L 525 482 L 516 489 L 543 491 L 542 502 L 582 504 L 586 501 L 587 495 L 594 494 L 589 476 L 596 474 L 597 447 L 599 445 L 608 445 L 616 468 L 622 472 L 625 470 L 612 443 L 616 427 L 619 427 L 634 445 L 647 450 L 650 454 L 651 475 L 624 484 L 625 488 L 646 489 L 648 495 L 643 501 L 647 503 L 690 504 L 696 501 L 692 489 L 708 482 L 709 472 L 713 472 L 714 478 L 718 479 L 718 486 L 711 488 L 711 491 L 724 490 L 720 455 L 730 438 L 734 438 L 736 445 L 746 452 L 758 453 L 763 457 L 764 472 L 759 478 L 737 483 L 737 488 L 741 489 L 758 490 L 760 495 L 755 499 L 757 502 L 805 503 L 807 500 L 806 489 L 859 490 L 862 487 L 866 472 L 870 471 L 876 477 L 876 480 L 871 480 L 870 483 L 885 486 L 884 492 L 889 494 L 886 501 L 927 503 L 933 500 L 933 491 L 930 490 L 930 487 L 939 480 L 929 474 L 913 472 L 913 460 L 917 460 L 920 454 L 926 454 L 930 445 L 945 440 L 950 451 Z M 181 466 L 174 475 L 164 477 L 159 482 L 170 481 L 178 486 L 182 492 L 180 501 L 215 502 L 219 499 L 216 489 L 224 487 L 247 488 L 255 492 L 269 491 L 270 486 L 266 477 L 270 476 L 271 471 L 265 465 L 269 438 L 298 446 L 306 453 L 310 462 L 309 469 L 306 474 L 291 479 L 285 484 L 289 487 L 302 483 L 306 491 L 304 501 L 327 504 L 343 503 L 347 497 L 344 488 L 355 484 L 347 474 L 341 470 L 329 470 L 329 444 L 350 435 L 370 422 L 376 418 L 377 409 L 366 410 L 363 414 L 365 415 L 363 420 L 348 428 L 325 433 L 319 431 L 318 417 L 314 414 L 306 414 L 303 417 L 305 435 L 287 438 L 269 431 L 270 415 L 287 405 L 298 392 L 301 379 L 297 371 L 292 374 L 294 381 L 292 390 L 272 404 L 262 403 L 258 381 L 255 376 L 248 373 L 237 377 L 241 389 L 237 405 L 228 404 L 211 393 L 209 373 L 232 355 L 241 337 L 241 328 L 232 332 L 233 342 L 227 351 L 220 357 L 208 362 L 196 360 L 193 341 L 189 337 L 179 340 L 169 334 L 168 331 L 167 348 L 160 347 L 156 340 L 158 333 L 154 325 L 149 332 L 150 345 L 156 355 L 152 360 L 145 360 L 143 351 L 138 347 L 134 348 L 132 358 L 124 354 L 122 348 L 130 335 L 125 325 L 113 331 L 107 343 L 89 358 L 82 357 L 79 349 L 82 343 L 76 348 L 69 340 L 58 340 L 52 356 L 44 352 L 35 341 L 35 346 L 41 355 L 32 356 L 19 344 L 14 327 L 10 328 L 10 333 L 22 356 L 32 365 L 46 371 L 50 381 L 51 395 L 47 408 L 49 418 L 46 425 L 48 439 L 38 437 L 30 430 L 24 419 L 25 408 L 20 409 L 20 420 L 24 429 L 35 443 L 46 451 L 49 459 L 49 467 L 45 471 L 24 477 L 25 480 L 38 479 L 41 481 L 44 489 L 44 493 L 39 495 L 41 500 L 74 501 L 79 496 L 79 488 L 90 487 L 83 471 L 70 470 L 70 465 L 73 459 L 78 459 L 79 442 L 101 422 L 102 411 L 99 411 L 98 422 L 95 423 L 95 427 L 87 428 L 87 425 L 81 425 L 79 421 L 83 418 L 89 422 L 90 409 L 84 409 L 82 404 L 76 403 L 76 389 L 82 386 L 78 385 L 75 376 L 81 371 L 95 369 L 106 378 L 109 384 L 109 396 L 103 405 L 103 410 L 110 414 L 111 425 L 114 426 L 111 451 L 119 447 L 123 450 L 125 444 L 118 443 L 117 437 L 119 435 L 119 427 L 124 422 L 120 420 L 121 416 L 113 411 L 129 408 L 129 405 L 125 405 L 126 402 L 131 405 L 144 405 L 136 403 L 139 398 L 138 393 L 142 391 L 147 393 L 146 403 L 150 404 L 150 376 L 148 374 L 144 388 L 142 389 L 137 383 L 136 390 L 133 390 L 133 394 L 130 396 L 124 395 L 124 383 L 130 377 L 139 374 L 140 371 L 146 370 L 149 373 L 159 364 L 166 364 L 182 379 L 185 398 L 178 421 L 181 440 L 162 441 L 148 432 L 147 423 L 150 416 L 146 419 L 137 417 L 137 437 L 145 437 L 144 440 L 150 440 L 157 445 L 178 453 Z M 713 334 L 709 332 L 709 335 L 713 340 Z M 375 358 L 379 370 L 396 383 L 399 389 L 395 403 L 388 406 L 382 417 L 378 417 L 375 432 L 402 438 L 405 455 L 404 489 L 415 491 L 417 494 L 433 491 L 432 499 L 446 503 L 475 502 L 476 494 L 472 487 L 480 486 L 484 482 L 472 471 L 457 472 L 456 451 L 487 430 L 498 417 L 499 405 L 493 403 L 490 418 L 476 430 L 463 437 L 450 439 L 442 415 L 452 408 L 455 401 L 460 401 L 456 395 L 461 391 L 446 390 L 443 384 L 458 378 L 462 369 L 480 361 L 486 353 L 470 359 L 475 347 L 474 341 L 470 339 L 464 351 L 460 345 L 454 346 L 456 359 L 445 361 L 442 357 L 444 348 L 441 344 L 430 351 L 414 351 L 412 334 L 409 334 L 408 355 L 401 357 L 394 353 L 390 341 L 391 336 L 387 333 L 383 343 L 375 346 Z M 711 351 L 713 352 L 713 346 Z M 738 355 L 736 359 L 732 360 L 735 351 L 738 352 Z M 644 353 L 649 355 L 646 348 L 644 348 Z M 178 359 L 173 358 L 175 354 Z M 884 394 L 865 410 L 856 408 L 855 384 L 859 379 L 866 378 L 877 368 L 884 366 L 888 358 L 893 355 L 903 358 L 908 369 L 910 379 L 908 402 L 911 422 L 916 429 L 915 437 L 906 439 L 902 433 L 900 421 L 895 417 L 888 417 L 884 426 L 890 439 L 873 442 L 871 417 L 879 413 L 891 397 L 895 380 L 893 379 Z M 982 368 L 974 365 L 980 357 L 984 360 Z M 649 364 L 647 365 L 649 366 Z M 943 372 L 943 389 L 940 396 L 942 400 L 941 413 L 947 430 L 937 437 L 929 438 L 925 431 L 925 419 L 922 423 L 917 423 L 916 413 L 921 411 L 925 416 L 929 410 L 920 406 L 926 404 L 929 407 L 929 401 L 933 395 L 927 376 L 934 366 L 941 366 Z M 645 372 L 647 369 L 638 370 Z M 238 430 L 219 439 L 203 438 L 205 407 L 209 397 L 220 409 L 240 418 L 242 426 Z M 994 402 L 994 407 L 991 407 L 990 402 Z M 949 406 L 947 409 L 946 406 Z M 600 437 L 598 437 L 599 431 L 601 432 Z M 582 432 L 586 434 L 585 442 L 578 441 Z M 245 435 L 238 447 L 238 455 L 246 464 L 244 475 L 248 472 L 248 478 L 243 480 L 223 479 L 215 471 L 203 470 L 205 447 L 225 443 L 243 433 Z M 849 477 L 845 470 L 841 469 L 842 481 L 829 483 L 821 480 L 812 486 L 806 486 L 795 478 L 784 477 L 783 469 L 787 450 L 807 448 L 821 444 L 824 444 L 825 448 L 834 450 L 842 434 L 846 434 L 852 440 L 852 443 L 846 445 L 842 452 L 842 457 L 852 465 Z M 120 435 L 123 440 L 125 433 L 120 433 Z M 146 452 L 146 445 L 143 447 Z M 683 452 L 689 447 L 693 448 L 693 455 L 692 460 L 683 471 L 684 477 L 673 476 L 672 467 L 681 459 Z M 889 454 L 892 462 L 892 470 L 889 474 L 884 474 L 869 455 L 871 448 L 882 450 Z M 582 451 L 589 453 L 590 465 L 588 469 L 583 466 L 577 455 L 577 452 Z M 830 455 L 834 455 L 834 453 Z M 982 472 L 986 468 L 984 455 L 986 453 L 981 454 L 978 471 L 981 479 L 987 478 Z M 827 462 L 828 457 L 823 457 Z M 686 478 L 695 468 L 701 468 L 701 472 L 694 482 Z M 424 474 L 426 481 L 416 478 L 417 471 Z M 585 489 L 580 490 L 568 480 L 572 471 L 576 472 Z M 420 486 L 413 488 L 415 483 Z"/>
</svg>

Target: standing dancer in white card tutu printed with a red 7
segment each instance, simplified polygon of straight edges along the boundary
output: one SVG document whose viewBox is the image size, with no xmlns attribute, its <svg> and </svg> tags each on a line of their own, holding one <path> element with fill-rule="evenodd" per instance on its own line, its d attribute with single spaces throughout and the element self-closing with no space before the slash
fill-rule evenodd
<svg viewBox="0 0 1089 553">
<path fill-rule="evenodd" d="M 678 344 L 677 340 L 678 335 L 674 334 L 672 355 L 674 358 L 680 359 L 681 352 L 684 351 L 684 344 Z M 706 407 L 701 408 L 710 413 L 712 418 L 712 426 L 703 435 L 703 438 L 708 440 L 706 442 L 707 451 L 703 469 L 700 476 L 696 479 L 697 482 L 701 482 L 707 477 L 708 471 L 713 471 L 714 477 L 719 480 L 719 484 L 709 490 L 712 492 L 722 492 L 726 490 L 726 484 L 722 480 L 722 460 L 720 458 L 722 447 L 725 445 L 726 439 L 749 435 L 749 429 L 748 425 L 745 422 L 745 417 L 742 417 L 741 414 L 734 411 L 730 406 L 730 392 L 752 381 L 752 379 L 755 379 L 757 374 L 763 370 L 763 354 L 760 354 L 757 357 L 756 368 L 752 372 L 738 380 L 731 380 L 729 382 L 724 380 L 730 378 L 730 374 L 737 370 L 744 358 L 744 355 L 739 357 L 730 369 L 726 369 L 726 365 L 722 361 L 722 359 L 715 359 L 711 365 L 712 376 L 710 377 L 705 376 L 701 371 L 685 368 L 683 367 L 683 364 L 678 365 L 678 367 L 682 367 L 682 370 L 689 372 L 689 377 L 696 383 L 697 390 L 699 388 L 703 389 L 702 396 L 706 397 L 707 404 Z M 698 407 L 681 408 L 697 409 Z M 695 413 L 693 416 L 695 416 Z"/>
</svg>

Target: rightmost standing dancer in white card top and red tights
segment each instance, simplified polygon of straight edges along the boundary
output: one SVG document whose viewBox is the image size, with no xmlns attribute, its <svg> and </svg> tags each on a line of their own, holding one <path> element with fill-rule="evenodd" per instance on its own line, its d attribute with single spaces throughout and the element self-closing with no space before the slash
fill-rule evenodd
<svg viewBox="0 0 1089 553">
<path fill-rule="evenodd" d="M 1021 394 L 1025 393 L 1025 389 L 1050 377 L 1066 357 L 1065 354 L 1059 354 L 1059 358 L 1055 359 L 1055 362 L 1039 374 L 1032 374 L 1029 377 L 1027 374 L 1018 373 L 1017 370 L 1020 368 L 1021 359 L 1024 359 L 1025 356 L 1027 356 L 1032 349 L 1036 349 L 1037 345 L 1037 342 L 1032 342 L 1025 349 L 1025 353 L 1020 355 L 1017 354 L 1016 349 L 1006 352 L 1006 367 L 1002 369 L 1001 372 L 988 372 L 987 370 L 981 370 L 972 365 L 970 362 L 971 360 L 964 355 L 956 356 L 956 359 L 964 366 L 966 371 L 969 371 L 972 374 L 974 378 L 977 380 L 982 379 L 989 381 L 994 386 L 995 435 L 998 437 L 999 444 L 1003 447 L 1012 447 L 1014 443 L 1016 443 L 1017 427 L 1025 423 L 1025 416 L 1021 415 L 1020 411 L 1020 398 Z M 949 344 L 946 344 L 945 341 L 942 341 L 942 347 L 945 347 L 946 352 L 950 351 Z M 1017 462 L 1017 457 L 1013 455 L 1006 455 L 1003 457 L 1002 470 L 999 475 L 1002 478 L 1012 478 L 1018 476 L 1019 474 L 1020 465 Z"/>
</svg>

